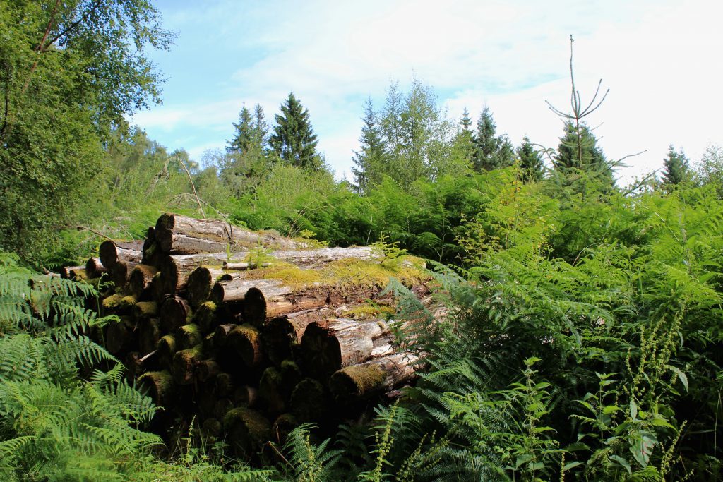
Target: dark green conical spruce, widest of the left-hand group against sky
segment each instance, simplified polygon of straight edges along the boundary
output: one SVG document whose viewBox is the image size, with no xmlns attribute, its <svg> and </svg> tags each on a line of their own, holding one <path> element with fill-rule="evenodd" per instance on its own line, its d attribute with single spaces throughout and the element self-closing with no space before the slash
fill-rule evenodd
<svg viewBox="0 0 723 482">
<path fill-rule="evenodd" d="M 293 92 L 281 104 L 281 114 L 276 114 L 275 120 L 269 144 L 278 157 L 300 168 L 319 170 L 322 167 L 316 150 L 319 141 L 309 121 L 309 111 L 301 106 Z"/>
</svg>

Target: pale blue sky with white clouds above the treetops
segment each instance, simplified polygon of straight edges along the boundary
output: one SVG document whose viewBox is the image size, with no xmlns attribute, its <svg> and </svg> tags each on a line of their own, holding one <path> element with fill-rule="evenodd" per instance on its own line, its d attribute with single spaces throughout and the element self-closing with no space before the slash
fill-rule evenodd
<svg viewBox="0 0 723 482">
<path fill-rule="evenodd" d="M 245 105 L 273 124 L 294 92 L 337 178 L 351 179 L 364 101 L 381 107 L 391 82 L 416 78 L 440 106 L 474 121 L 488 106 L 497 133 L 557 147 L 570 111 L 570 35 L 576 87 L 607 158 L 627 158 L 627 183 L 662 168 L 669 145 L 693 163 L 723 145 L 723 2 L 718 0 L 160 0 L 178 35 L 151 51 L 163 104 L 133 123 L 169 150 L 202 162 L 223 149 Z M 718 59 L 718 60 L 716 60 Z"/>
</svg>

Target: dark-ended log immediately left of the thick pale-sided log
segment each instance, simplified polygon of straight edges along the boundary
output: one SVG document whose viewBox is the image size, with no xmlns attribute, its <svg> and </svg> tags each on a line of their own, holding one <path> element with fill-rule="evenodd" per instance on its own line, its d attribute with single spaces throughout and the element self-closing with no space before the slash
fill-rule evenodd
<svg viewBox="0 0 723 482">
<path fill-rule="evenodd" d="M 269 361 L 278 365 L 283 360 L 291 358 L 294 349 L 301 343 L 307 325 L 330 316 L 333 316 L 333 310 L 324 306 L 270 319 L 262 326 L 264 347 Z"/>
</svg>

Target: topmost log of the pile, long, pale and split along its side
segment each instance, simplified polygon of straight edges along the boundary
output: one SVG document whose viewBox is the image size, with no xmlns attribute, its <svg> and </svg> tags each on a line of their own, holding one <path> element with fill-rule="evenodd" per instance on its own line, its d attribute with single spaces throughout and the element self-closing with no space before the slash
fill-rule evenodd
<svg viewBox="0 0 723 482">
<path fill-rule="evenodd" d="M 170 252 L 166 239 L 168 234 L 184 235 L 208 241 L 216 241 L 234 248 L 253 248 L 254 246 L 276 247 L 278 249 L 303 249 L 306 244 L 283 238 L 275 233 L 254 233 L 244 228 L 215 220 L 199 220 L 186 216 L 164 214 L 155 223 L 156 238 L 163 250 Z M 215 251 L 223 251 L 216 249 Z M 236 249 L 234 249 L 236 251 Z M 213 252 L 213 251 L 207 251 Z"/>
</svg>

